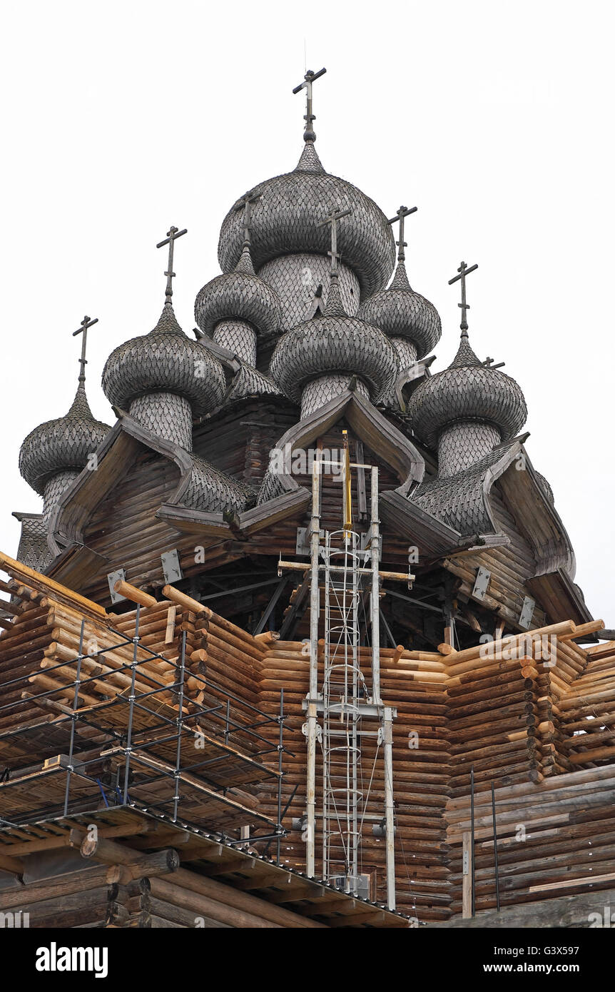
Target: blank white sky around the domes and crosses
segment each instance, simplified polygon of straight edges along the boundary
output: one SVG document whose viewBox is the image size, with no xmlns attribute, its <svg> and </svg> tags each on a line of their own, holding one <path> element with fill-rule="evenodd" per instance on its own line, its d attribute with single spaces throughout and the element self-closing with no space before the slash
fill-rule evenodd
<svg viewBox="0 0 615 992">
<path fill-rule="evenodd" d="M 470 341 L 521 384 L 527 447 L 550 479 L 577 581 L 615 626 L 612 446 L 613 7 L 585 0 L 30 0 L 2 5 L 3 486 L 26 434 L 72 400 L 83 313 L 93 413 L 109 352 L 156 323 L 171 224 L 186 331 L 218 273 L 221 220 L 248 187 L 294 168 L 308 67 L 324 168 L 407 224 L 413 286 L 442 317 L 432 371 L 457 346 L 461 258 Z"/>
</svg>

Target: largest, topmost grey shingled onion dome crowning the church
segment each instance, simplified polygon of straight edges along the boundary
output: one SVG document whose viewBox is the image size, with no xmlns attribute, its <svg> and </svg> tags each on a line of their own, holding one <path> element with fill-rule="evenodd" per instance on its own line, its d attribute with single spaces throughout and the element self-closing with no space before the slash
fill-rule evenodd
<svg viewBox="0 0 615 992">
<path fill-rule="evenodd" d="M 393 233 L 387 218 L 373 199 L 356 186 L 325 173 L 313 146 L 313 132 L 306 133 L 306 145 L 293 172 L 266 180 L 250 193 L 259 197 L 253 204 L 251 220 L 252 261 L 257 272 L 280 255 L 326 255 L 327 232 L 317 227 L 315 220 L 334 210 L 350 209 L 339 240 L 343 263 L 359 280 L 363 298 L 387 285 L 395 261 Z M 243 224 L 236 204 L 226 214 L 220 230 L 218 260 L 223 272 L 234 269 L 242 247 Z"/>
</svg>

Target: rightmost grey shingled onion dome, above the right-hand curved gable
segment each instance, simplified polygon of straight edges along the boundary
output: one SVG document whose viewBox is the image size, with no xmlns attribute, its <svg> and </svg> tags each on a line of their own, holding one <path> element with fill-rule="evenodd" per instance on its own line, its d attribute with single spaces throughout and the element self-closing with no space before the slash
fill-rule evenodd
<svg viewBox="0 0 615 992">
<path fill-rule="evenodd" d="M 462 330 L 454 360 L 421 383 L 408 413 L 415 433 L 432 447 L 439 432 L 455 421 L 494 425 L 501 440 L 508 440 L 521 431 L 528 409 L 521 387 L 499 369 L 484 365 Z"/>
</svg>

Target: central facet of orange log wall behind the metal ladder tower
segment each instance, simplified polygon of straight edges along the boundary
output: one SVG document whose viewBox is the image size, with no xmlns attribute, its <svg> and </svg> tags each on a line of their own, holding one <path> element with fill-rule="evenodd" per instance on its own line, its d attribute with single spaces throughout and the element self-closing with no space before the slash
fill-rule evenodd
<svg viewBox="0 0 615 992">
<path fill-rule="evenodd" d="M 361 670 L 371 684 L 371 651 L 361 649 Z M 323 677 L 323 645 L 320 645 L 319 679 Z M 306 739 L 301 733 L 305 721 L 303 701 L 308 694 L 309 658 L 306 645 L 279 641 L 267 653 L 261 675 L 260 705 L 276 712 L 280 688 L 292 731 L 287 746 L 293 755 L 284 755 L 283 804 L 290 803 L 284 825 L 290 831 L 283 842 L 289 863 L 305 865 L 306 849 L 302 831 L 293 829 L 294 817 L 306 810 Z M 386 705 L 395 706 L 393 722 L 394 777 L 396 803 L 397 899 L 402 912 L 419 920 L 445 920 L 449 915 L 445 825 L 442 817 L 448 796 L 448 746 L 445 728 L 446 675 L 437 653 L 381 649 L 381 694 Z M 365 727 L 367 721 L 363 721 Z M 275 732 L 275 731 L 274 731 Z M 272 735 L 272 744 L 274 737 Z M 382 750 L 375 737 L 361 743 L 360 772 L 365 801 L 362 834 L 361 871 L 373 879 L 373 898 L 385 901 L 385 847 L 372 833 L 371 825 L 384 816 L 384 768 Z M 342 785 L 332 777 L 331 785 Z M 316 795 L 321 795 L 321 763 L 316 771 Z M 273 814 L 276 797 L 263 791 L 262 803 Z M 370 818 L 371 817 L 371 818 Z M 316 852 L 321 833 L 316 820 Z M 332 857 L 343 860 L 343 852 L 332 849 Z M 316 872 L 319 870 L 316 862 Z"/>
</svg>

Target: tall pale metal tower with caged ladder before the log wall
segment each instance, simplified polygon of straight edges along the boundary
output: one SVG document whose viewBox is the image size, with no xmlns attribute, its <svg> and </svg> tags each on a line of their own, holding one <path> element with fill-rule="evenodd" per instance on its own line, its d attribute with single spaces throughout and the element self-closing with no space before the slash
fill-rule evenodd
<svg viewBox="0 0 615 992">
<path fill-rule="evenodd" d="M 305 702 L 308 739 L 306 865 L 315 876 L 316 817 L 321 827 L 322 878 L 353 895 L 364 895 L 360 870 L 363 830 L 375 820 L 386 842 L 387 904 L 395 909 L 395 822 L 393 796 L 393 719 L 396 711 L 380 695 L 380 596 L 384 577 L 412 582 L 409 573 L 380 570 L 381 537 L 378 516 L 378 467 L 351 463 L 344 449 L 343 528 L 320 531 L 323 469 L 338 462 L 317 455 L 312 462 L 310 520 L 309 691 Z M 352 530 L 350 472 L 368 469 L 371 475 L 371 524 L 362 535 Z M 322 538 L 323 543 L 322 543 Z M 304 570 L 305 564 L 279 562 L 284 569 Z M 370 601 L 371 685 L 361 669 L 359 612 L 366 594 Z M 323 603 L 323 672 L 319 679 L 320 606 Z M 318 717 L 321 721 L 318 722 Z M 383 814 L 367 810 L 369 785 L 360 784 L 361 742 L 375 738 L 376 759 L 382 752 L 385 802 Z M 319 744 L 322 788 L 316 814 L 316 753 Z M 375 759 L 375 761 L 376 761 Z M 375 765 L 374 765 L 375 767 Z"/>
</svg>

